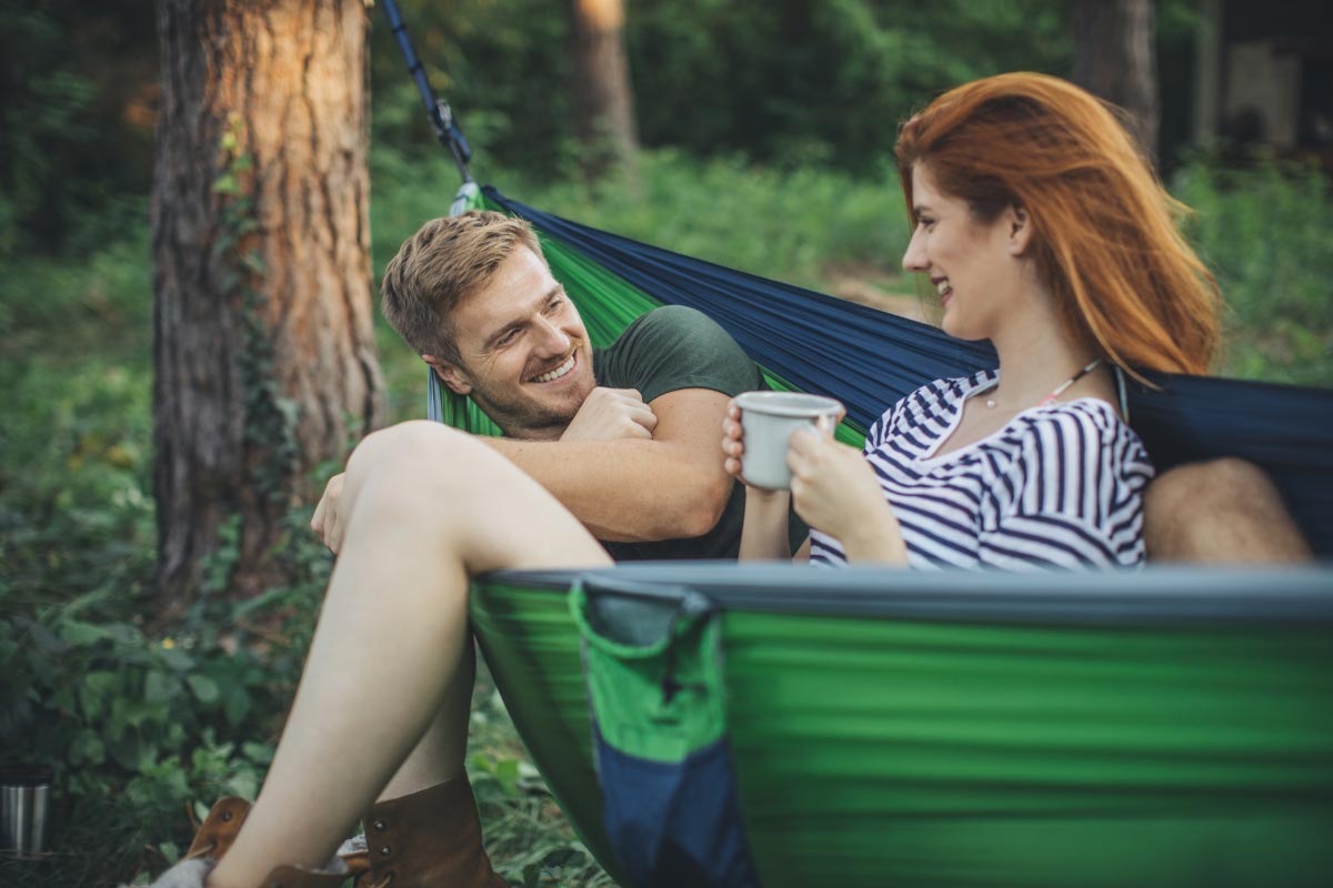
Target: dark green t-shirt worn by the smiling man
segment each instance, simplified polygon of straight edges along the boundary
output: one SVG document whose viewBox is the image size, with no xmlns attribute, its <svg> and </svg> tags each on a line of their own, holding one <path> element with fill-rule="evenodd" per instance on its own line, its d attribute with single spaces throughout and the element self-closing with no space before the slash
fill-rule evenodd
<svg viewBox="0 0 1333 888">
<path fill-rule="evenodd" d="M 593 375 L 608 389 L 637 389 L 645 402 L 680 389 L 710 389 L 725 395 L 768 387 L 758 367 L 726 330 L 706 314 L 668 305 L 639 317 L 620 338 L 593 353 Z M 718 429 L 721 439 L 721 429 Z M 717 458 L 721 459 L 721 449 Z M 745 486 L 736 483 L 726 509 L 710 531 L 689 539 L 603 546 L 616 560 L 736 558 L 745 515 Z M 792 546 L 808 529 L 792 513 Z"/>
</svg>

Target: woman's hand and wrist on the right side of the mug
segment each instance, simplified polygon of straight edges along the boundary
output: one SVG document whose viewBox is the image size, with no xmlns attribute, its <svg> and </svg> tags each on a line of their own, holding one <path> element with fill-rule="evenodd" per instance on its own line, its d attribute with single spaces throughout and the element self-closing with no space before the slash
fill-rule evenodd
<svg viewBox="0 0 1333 888">
<path fill-rule="evenodd" d="M 842 543 L 848 560 L 906 563 L 898 519 L 860 450 L 828 430 L 802 430 L 792 435 L 786 465 L 796 514 Z"/>
</svg>

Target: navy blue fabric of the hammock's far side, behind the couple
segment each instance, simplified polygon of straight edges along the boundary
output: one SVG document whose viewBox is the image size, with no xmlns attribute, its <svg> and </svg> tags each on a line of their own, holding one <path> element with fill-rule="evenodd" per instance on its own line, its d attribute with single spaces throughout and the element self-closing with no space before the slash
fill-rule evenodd
<svg viewBox="0 0 1333 888">
<path fill-rule="evenodd" d="M 491 186 L 483 193 L 660 302 L 704 312 L 794 387 L 841 399 L 861 427 L 932 379 L 996 366 L 989 343 L 579 225 Z M 1129 418 L 1158 471 L 1218 457 L 1253 462 L 1316 554 L 1333 556 L 1333 389 L 1145 375 L 1158 387 L 1129 381 Z"/>
</svg>

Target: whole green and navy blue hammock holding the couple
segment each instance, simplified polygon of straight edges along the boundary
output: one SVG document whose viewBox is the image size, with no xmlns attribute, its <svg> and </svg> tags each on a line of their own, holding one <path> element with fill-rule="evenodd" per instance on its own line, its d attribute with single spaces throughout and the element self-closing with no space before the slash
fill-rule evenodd
<svg viewBox="0 0 1333 888">
<path fill-rule="evenodd" d="M 777 389 L 889 403 L 986 346 L 528 218 L 595 345 L 657 305 L 721 324 Z M 497 430 L 432 383 L 431 409 Z M 1333 543 L 1333 393 L 1130 386 L 1160 469 L 1236 455 Z M 1333 881 L 1333 570 L 929 575 L 625 564 L 481 578 L 472 626 L 571 823 L 624 885 Z"/>
</svg>

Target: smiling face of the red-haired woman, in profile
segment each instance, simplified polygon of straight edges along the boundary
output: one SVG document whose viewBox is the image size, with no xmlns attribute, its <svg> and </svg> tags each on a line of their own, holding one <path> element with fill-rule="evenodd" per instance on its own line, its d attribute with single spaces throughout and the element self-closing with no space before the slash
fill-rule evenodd
<svg viewBox="0 0 1333 888">
<path fill-rule="evenodd" d="M 1013 317 L 1020 296 L 1020 264 L 1026 238 L 1014 252 L 1013 209 L 978 222 L 966 201 L 938 190 L 924 164 L 912 168 L 916 228 L 902 268 L 929 274 L 944 309 L 941 328 L 960 339 L 990 339 Z"/>
</svg>

